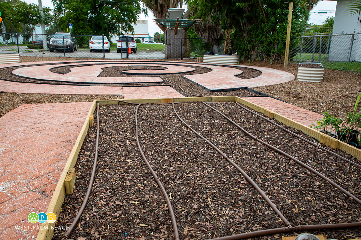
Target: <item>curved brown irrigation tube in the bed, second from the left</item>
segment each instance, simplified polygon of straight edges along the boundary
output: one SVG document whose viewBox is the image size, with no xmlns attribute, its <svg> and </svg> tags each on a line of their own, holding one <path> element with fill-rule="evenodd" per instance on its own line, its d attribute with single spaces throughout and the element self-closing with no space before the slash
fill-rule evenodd
<svg viewBox="0 0 361 240">
<path fill-rule="evenodd" d="M 140 151 L 140 155 L 142 155 L 142 158 L 145 162 L 145 164 L 147 164 L 147 167 L 149 169 L 149 171 L 151 171 L 153 177 L 155 178 L 158 186 L 160 187 L 160 189 L 162 190 L 163 196 L 165 198 L 165 201 L 168 205 L 168 209 L 169 209 L 169 213 L 170 213 L 170 218 L 172 220 L 172 225 L 173 225 L 173 232 L 174 232 L 174 239 L 175 240 L 179 240 L 179 233 L 178 233 L 178 227 L 177 227 L 177 221 L 175 220 L 175 215 L 173 212 L 173 208 L 172 208 L 172 204 L 170 203 L 170 199 L 169 196 L 162 184 L 162 182 L 160 181 L 159 177 L 157 176 L 157 174 L 153 171 L 153 168 L 151 166 L 151 164 L 149 164 L 147 158 L 145 157 L 142 148 L 140 147 L 140 142 L 139 142 L 139 138 L 138 138 L 138 119 L 137 119 L 137 115 L 138 115 L 138 109 L 139 107 L 142 105 L 138 104 L 138 107 L 135 110 L 135 138 L 136 138 L 136 144 L 138 145 L 138 149 Z"/>
</svg>

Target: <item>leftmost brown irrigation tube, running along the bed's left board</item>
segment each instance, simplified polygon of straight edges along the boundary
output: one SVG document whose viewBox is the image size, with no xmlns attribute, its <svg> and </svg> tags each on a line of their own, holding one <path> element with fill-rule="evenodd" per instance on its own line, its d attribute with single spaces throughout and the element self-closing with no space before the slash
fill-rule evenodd
<svg viewBox="0 0 361 240">
<path fill-rule="evenodd" d="M 80 219 L 80 217 L 82 216 L 84 209 L 87 205 L 89 196 L 90 196 L 90 192 L 91 192 L 91 188 L 93 186 L 93 181 L 94 181 L 94 177 L 95 177 L 95 171 L 96 171 L 96 164 L 98 161 L 98 146 L 99 146 L 99 103 L 97 104 L 97 114 L 96 114 L 96 119 L 97 119 L 97 128 L 96 128 L 96 143 L 95 143 L 95 157 L 94 157 L 94 164 L 93 164 L 93 171 L 91 173 L 91 177 L 90 177 L 90 181 L 89 181 L 89 185 L 88 185 L 88 190 L 87 190 L 87 194 L 85 195 L 82 207 L 79 209 L 79 212 L 77 214 L 77 216 L 74 218 L 73 223 L 71 223 L 68 231 L 66 231 L 66 233 L 64 234 L 65 236 L 62 237 L 62 240 L 68 239 L 70 237 L 71 232 L 74 230 L 75 226 L 77 226 L 77 223 Z"/>
</svg>

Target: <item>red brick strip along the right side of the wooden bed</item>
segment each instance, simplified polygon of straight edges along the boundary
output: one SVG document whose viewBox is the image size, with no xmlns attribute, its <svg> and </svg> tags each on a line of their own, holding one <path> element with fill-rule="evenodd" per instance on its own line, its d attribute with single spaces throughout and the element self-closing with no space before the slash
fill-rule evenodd
<svg viewBox="0 0 361 240">
<path fill-rule="evenodd" d="M 252 103 L 260 105 L 261 107 L 272 110 L 273 112 L 279 113 L 285 117 L 288 117 L 296 122 L 302 123 L 308 127 L 311 124 L 316 124 L 317 119 L 322 119 L 323 115 L 311 112 L 309 110 L 296 107 L 295 105 L 285 103 L 283 101 L 270 98 L 270 97 L 259 97 L 259 98 L 244 98 Z"/>
</svg>

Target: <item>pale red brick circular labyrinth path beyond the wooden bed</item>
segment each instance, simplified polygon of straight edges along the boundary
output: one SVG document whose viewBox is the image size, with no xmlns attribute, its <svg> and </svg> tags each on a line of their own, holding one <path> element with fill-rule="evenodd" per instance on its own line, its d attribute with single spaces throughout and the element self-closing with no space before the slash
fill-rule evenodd
<svg viewBox="0 0 361 240">
<path fill-rule="evenodd" d="M 70 61 L 66 63 L 59 64 L 61 62 L 41 62 L 42 64 L 49 65 L 40 65 L 27 67 L 26 65 L 30 64 L 39 64 L 39 63 L 23 63 L 24 67 L 13 70 L 13 73 L 18 76 L 24 76 L 29 78 L 39 78 L 42 80 L 54 80 L 54 81 L 75 81 L 75 82 L 153 82 L 159 81 L 159 77 L 144 76 L 144 77 L 129 77 L 125 79 L 124 77 L 98 77 L 99 73 L 103 71 L 102 68 L 112 67 L 112 66 L 124 66 L 124 65 L 142 65 L 142 66 L 160 66 L 165 67 L 164 70 L 129 70 L 128 72 L 137 72 L 137 73 L 178 73 L 191 71 L 194 68 L 192 66 L 199 66 L 210 68 L 212 71 L 201 74 L 183 74 L 184 77 L 189 80 L 205 87 L 207 90 L 221 90 L 221 89 L 233 89 L 237 87 L 259 87 L 259 86 L 268 86 L 279 84 L 283 82 L 288 82 L 295 79 L 293 74 L 280 71 L 277 69 L 264 68 L 264 67 L 252 67 L 262 71 L 262 74 L 255 78 L 242 79 L 236 77 L 235 75 L 242 73 L 242 70 L 225 67 L 222 65 L 209 65 L 203 63 L 193 63 L 193 62 L 136 62 L 136 61 L 82 61 L 75 62 Z M 55 64 L 56 63 L 56 64 Z M 91 65 L 88 64 L 102 64 L 102 65 Z M 18 66 L 22 64 L 3 64 L 0 67 L 10 67 Z M 71 68 L 71 72 L 66 74 L 59 74 L 51 72 L 49 69 L 54 67 L 61 67 L 65 65 L 84 65 Z M 240 66 L 240 65 L 234 65 Z M 242 66 L 247 67 L 248 66 Z M 27 85 L 23 85 L 27 84 Z M 154 93 L 148 95 L 148 91 L 141 89 L 142 86 L 132 87 L 132 89 L 127 90 L 126 92 L 142 92 L 140 98 L 177 98 L 179 97 L 177 91 L 166 86 L 164 90 L 161 91 L 160 96 L 156 96 Z M 125 87 L 124 87 L 125 88 Z M 54 86 L 46 84 L 30 84 L 30 83 L 18 83 L 18 82 L 7 82 L 0 81 L 1 91 L 13 91 L 13 92 L 24 92 L 24 93 L 47 93 L 47 94 L 121 94 L 123 89 L 121 87 L 93 87 L 93 86 Z M 166 94 L 165 94 L 166 92 Z M 127 97 L 124 98 L 133 98 Z M 136 97 L 138 98 L 138 97 Z"/>
</svg>

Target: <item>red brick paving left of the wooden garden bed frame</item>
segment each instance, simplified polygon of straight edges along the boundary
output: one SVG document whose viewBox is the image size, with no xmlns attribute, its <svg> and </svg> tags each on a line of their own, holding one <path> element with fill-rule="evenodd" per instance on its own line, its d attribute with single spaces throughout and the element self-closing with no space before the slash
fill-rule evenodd
<svg viewBox="0 0 361 240">
<path fill-rule="evenodd" d="M 0 118 L 0 239 L 36 237 L 27 217 L 46 212 L 90 106 L 25 104 Z"/>
</svg>

